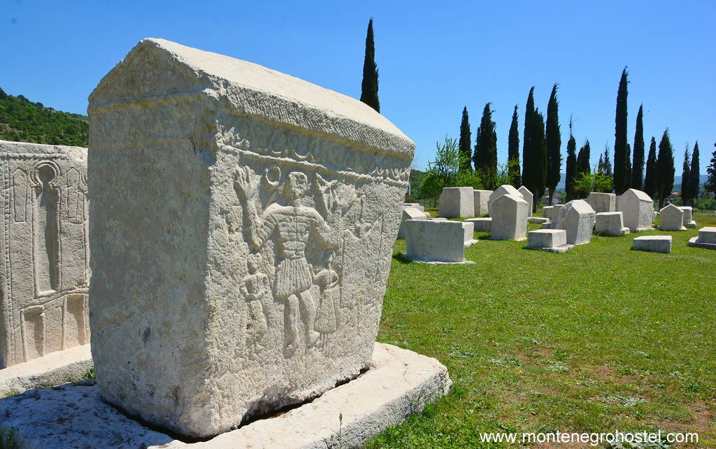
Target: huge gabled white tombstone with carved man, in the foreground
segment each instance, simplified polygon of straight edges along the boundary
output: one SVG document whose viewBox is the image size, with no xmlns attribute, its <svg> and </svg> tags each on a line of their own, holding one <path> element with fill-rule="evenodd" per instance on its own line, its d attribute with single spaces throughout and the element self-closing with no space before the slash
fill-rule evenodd
<svg viewBox="0 0 716 449">
<path fill-rule="evenodd" d="M 107 402 L 206 437 L 370 366 L 415 150 L 397 127 L 163 39 L 137 44 L 88 112 Z"/>
</svg>

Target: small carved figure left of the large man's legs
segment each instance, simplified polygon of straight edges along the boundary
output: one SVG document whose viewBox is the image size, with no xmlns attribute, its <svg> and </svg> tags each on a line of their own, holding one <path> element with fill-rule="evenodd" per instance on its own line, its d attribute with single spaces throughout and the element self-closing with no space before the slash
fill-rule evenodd
<svg viewBox="0 0 716 449">
<path fill-rule="evenodd" d="M 258 271 L 261 266 L 261 254 L 249 254 L 246 259 L 248 274 L 241 279 L 239 290 L 246 299 L 246 347 L 258 352 L 258 342 L 269 325 L 263 313 L 263 296 L 271 291 L 269 276 Z"/>
</svg>

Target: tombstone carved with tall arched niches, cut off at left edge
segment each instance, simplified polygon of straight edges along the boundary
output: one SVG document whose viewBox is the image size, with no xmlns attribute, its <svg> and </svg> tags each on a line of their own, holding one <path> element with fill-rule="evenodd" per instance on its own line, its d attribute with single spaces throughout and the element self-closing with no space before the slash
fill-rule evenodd
<svg viewBox="0 0 716 449">
<path fill-rule="evenodd" d="M 0 141 L 0 368 L 89 343 L 87 149 Z"/>
</svg>

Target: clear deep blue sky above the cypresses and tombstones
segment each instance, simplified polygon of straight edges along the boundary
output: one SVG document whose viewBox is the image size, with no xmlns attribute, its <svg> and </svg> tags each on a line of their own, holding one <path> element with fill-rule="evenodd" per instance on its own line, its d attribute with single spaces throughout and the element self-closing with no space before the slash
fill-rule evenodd
<svg viewBox="0 0 716 449">
<path fill-rule="evenodd" d="M 716 141 L 716 1 L 0 1 L 0 87 L 57 110 L 86 113 L 87 95 L 143 37 L 163 37 L 360 96 L 367 21 L 374 17 L 383 115 L 417 143 L 458 137 L 463 106 L 475 130 L 485 102 L 507 155 L 514 105 L 536 86 L 546 111 L 558 82 L 563 146 L 574 115 L 592 163 L 614 146 L 621 69 L 629 67 L 629 142 L 669 127 L 677 175 L 684 145 L 701 171 Z M 566 153 L 566 149 L 563 149 Z"/>
</svg>

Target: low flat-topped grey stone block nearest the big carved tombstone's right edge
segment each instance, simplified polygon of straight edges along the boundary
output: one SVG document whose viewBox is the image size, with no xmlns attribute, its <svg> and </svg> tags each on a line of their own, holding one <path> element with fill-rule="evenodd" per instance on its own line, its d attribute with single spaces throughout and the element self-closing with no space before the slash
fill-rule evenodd
<svg viewBox="0 0 716 449">
<path fill-rule="evenodd" d="M 463 223 L 447 220 L 407 221 L 405 255 L 417 262 L 464 263 L 465 246 L 469 245 L 466 244 L 467 232 Z"/>
</svg>

